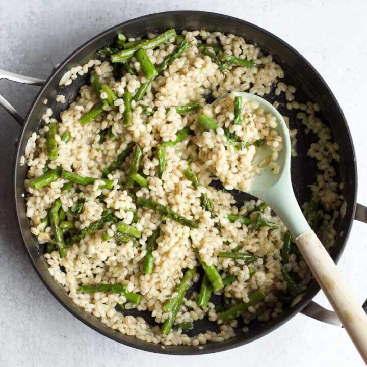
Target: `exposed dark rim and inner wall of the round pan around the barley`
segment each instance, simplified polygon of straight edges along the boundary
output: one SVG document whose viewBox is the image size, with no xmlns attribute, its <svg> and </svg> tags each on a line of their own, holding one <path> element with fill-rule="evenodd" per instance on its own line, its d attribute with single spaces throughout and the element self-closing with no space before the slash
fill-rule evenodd
<svg viewBox="0 0 367 367">
<path fill-rule="evenodd" d="M 337 259 L 342 252 L 349 234 L 349 229 L 354 214 L 356 191 L 354 151 L 349 138 L 349 131 L 346 126 L 344 116 L 325 82 L 316 73 L 316 71 L 314 71 L 314 69 L 307 64 L 307 62 L 299 54 L 296 53 L 296 51 L 266 31 L 261 30 L 250 23 L 246 23 L 235 18 L 204 12 L 170 12 L 153 14 L 118 25 L 89 41 L 80 49 L 76 50 L 71 57 L 69 57 L 58 67 L 54 75 L 48 79 L 46 85 L 36 97 L 29 115 L 27 116 L 26 124 L 22 130 L 22 136 L 20 138 L 20 143 L 18 144 L 16 162 L 19 162 L 19 158 L 25 149 L 25 143 L 27 142 L 27 139 L 31 133 L 41 127 L 40 119 L 45 109 L 45 106 L 42 103 L 43 99 L 48 99 L 49 102 L 47 107 L 50 107 L 53 110 L 53 117 L 58 118 L 60 112 L 66 109 L 68 105 L 76 98 L 80 87 L 83 84 L 88 83 L 88 75 L 84 75 L 82 77 L 78 77 L 71 85 L 60 87 L 58 82 L 60 81 L 61 76 L 67 70 L 73 66 L 83 64 L 83 62 L 92 58 L 95 50 L 101 48 L 103 45 L 112 43 L 117 33 L 124 33 L 127 37 L 134 37 L 138 35 L 144 36 L 149 32 L 164 31 L 165 29 L 171 27 L 178 31 L 182 29 L 196 30 L 203 28 L 208 31 L 221 31 L 224 33 L 233 33 L 235 35 L 244 37 L 250 43 L 255 43 L 260 46 L 265 53 L 273 55 L 274 60 L 284 70 L 285 77 L 282 79 L 282 81 L 287 85 L 294 85 L 297 88 L 297 101 L 302 103 L 306 103 L 307 101 L 316 101 L 320 104 L 322 112 L 319 113 L 319 116 L 322 118 L 324 123 L 331 125 L 334 140 L 340 146 L 340 155 L 342 156 L 342 159 L 340 164 L 335 167 L 337 174 L 335 181 L 344 183 L 343 194 L 348 203 L 344 220 L 337 223 L 337 239 L 331 251 L 333 258 Z M 61 104 L 55 102 L 57 94 L 65 95 L 65 103 Z M 282 115 L 289 117 L 291 128 L 296 128 L 298 130 L 297 155 L 292 158 L 291 175 L 294 192 L 299 204 L 302 205 L 305 201 L 310 199 L 311 192 L 309 185 L 316 182 L 318 175 L 316 161 L 307 156 L 307 151 L 310 145 L 317 141 L 317 136 L 314 134 L 304 133 L 304 126 L 301 120 L 296 118 L 296 114 L 299 111 L 287 110 L 285 107 L 287 101 L 285 100 L 284 94 L 276 96 L 274 86 L 271 93 L 265 95 L 264 98 L 270 103 L 273 103 L 275 100 L 277 100 L 280 103 L 278 111 Z M 331 121 L 332 124 L 330 124 Z M 249 331 L 246 333 L 242 331 L 241 327 L 239 327 L 237 328 L 238 334 L 236 337 L 222 343 L 208 343 L 207 345 L 202 346 L 203 349 L 190 346 L 167 346 L 165 349 L 162 349 L 160 345 L 157 346 L 146 342 L 141 342 L 140 340 L 137 340 L 133 337 L 120 334 L 104 326 L 99 319 L 86 314 L 75 304 L 73 304 L 62 287 L 49 275 L 47 271 L 47 264 L 42 257 L 43 248 L 39 248 L 36 239 L 32 237 L 29 231 L 30 227 L 28 219 L 25 217 L 24 199 L 21 197 L 23 193 L 25 173 L 25 167 L 16 165 L 15 200 L 20 230 L 25 247 L 29 252 L 37 272 L 51 292 L 76 317 L 80 318 L 83 322 L 87 323 L 97 331 L 121 343 L 144 350 L 169 354 L 198 354 L 229 349 L 234 346 L 248 343 L 289 320 L 289 318 L 294 316 L 294 314 L 296 314 L 302 307 L 304 307 L 307 302 L 311 300 L 318 290 L 317 284 L 312 283 L 303 300 L 292 309 L 284 310 L 284 312 L 278 318 L 267 323 L 254 321 L 251 323 L 249 326 Z M 235 200 L 239 204 L 245 200 L 249 200 L 250 198 L 251 197 L 248 194 L 242 192 L 238 192 L 235 195 Z M 131 312 L 134 313 L 133 311 Z M 149 315 L 146 314 L 145 317 L 149 322 Z M 192 336 L 194 334 L 205 332 L 206 330 L 217 331 L 217 325 L 204 319 L 200 322 L 197 322 L 195 329 L 189 331 L 188 334 Z"/>
</svg>

